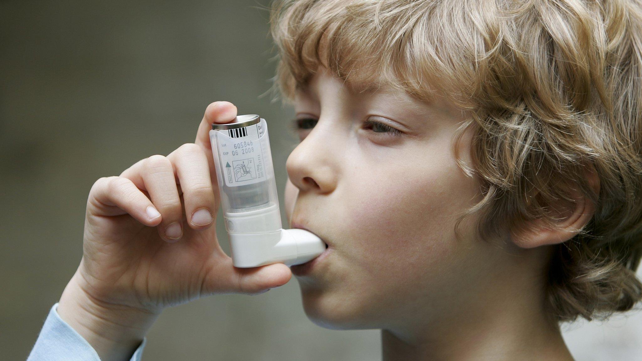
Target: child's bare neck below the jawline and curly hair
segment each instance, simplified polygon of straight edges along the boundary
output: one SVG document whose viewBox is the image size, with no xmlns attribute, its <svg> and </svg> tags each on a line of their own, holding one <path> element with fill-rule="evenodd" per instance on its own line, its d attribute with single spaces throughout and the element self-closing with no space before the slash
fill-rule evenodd
<svg viewBox="0 0 642 361">
<path fill-rule="evenodd" d="M 424 306 L 403 328 L 384 328 L 383 361 L 573 361 L 559 324 L 546 312 L 542 288 L 519 286 L 523 280 L 514 278 L 486 284 L 440 315 Z"/>
</svg>

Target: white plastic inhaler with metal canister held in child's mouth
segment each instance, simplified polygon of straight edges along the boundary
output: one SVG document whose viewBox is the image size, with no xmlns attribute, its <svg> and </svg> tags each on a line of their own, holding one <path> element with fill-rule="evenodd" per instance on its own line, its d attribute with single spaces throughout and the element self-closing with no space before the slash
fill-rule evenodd
<svg viewBox="0 0 642 361">
<path fill-rule="evenodd" d="M 213 124 L 209 139 L 234 267 L 305 263 L 325 243 L 304 229 L 282 229 L 265 119 L 239 115 Z"/>
</svg>

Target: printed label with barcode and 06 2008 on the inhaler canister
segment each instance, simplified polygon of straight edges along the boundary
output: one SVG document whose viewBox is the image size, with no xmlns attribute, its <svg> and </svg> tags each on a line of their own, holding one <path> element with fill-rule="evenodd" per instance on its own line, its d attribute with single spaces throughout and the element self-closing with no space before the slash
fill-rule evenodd
<svg viewBox="0 0 642 361">
<path fill-rule="evenodd" d="M 259 141 L 264 132 L 261 123 L 218 131 L 216 143 L 227 186 L 245 186 L 265 180 L 263 149 Z"/>
</svg>

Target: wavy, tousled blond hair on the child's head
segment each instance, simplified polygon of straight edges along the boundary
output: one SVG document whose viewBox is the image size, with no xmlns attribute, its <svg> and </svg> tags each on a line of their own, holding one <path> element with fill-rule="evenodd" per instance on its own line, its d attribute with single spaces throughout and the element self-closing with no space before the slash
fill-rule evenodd
<svg viewBox="0 0 642 361">
<path fill-rule="evenodd" d="M 472 114 L 483 238 L 580 192 L 596 212 L 555 247 L 546 294 L 559 321 L 642 298 L 642 6 L 580 0 L 277 1 L 270 16 L 285 101 L 322 65 L 353 91 L 380 85 Z M 593 179 L 593 180 L 591 180 Z M 599 192 L 594 191 L 599 180 Z M 503 225 L 503 226 L 501 226 Z"/>
</svg>

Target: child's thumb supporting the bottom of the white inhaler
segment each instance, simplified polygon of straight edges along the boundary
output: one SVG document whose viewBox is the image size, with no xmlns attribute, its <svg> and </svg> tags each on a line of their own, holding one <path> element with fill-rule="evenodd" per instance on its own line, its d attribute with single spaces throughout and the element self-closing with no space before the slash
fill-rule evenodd
<svg viewBox="0 0 642 361">
<path fill-rule="evenodd" d="M 241 269 L 234 267 L 232 258 L 228 258 L 218 263 L 216 270 L 207 272 L 203 283 L 207 294 L 254 295 L 285 285 L 291 277 L 290 267 L 283 263 Z"/>
</svg>

